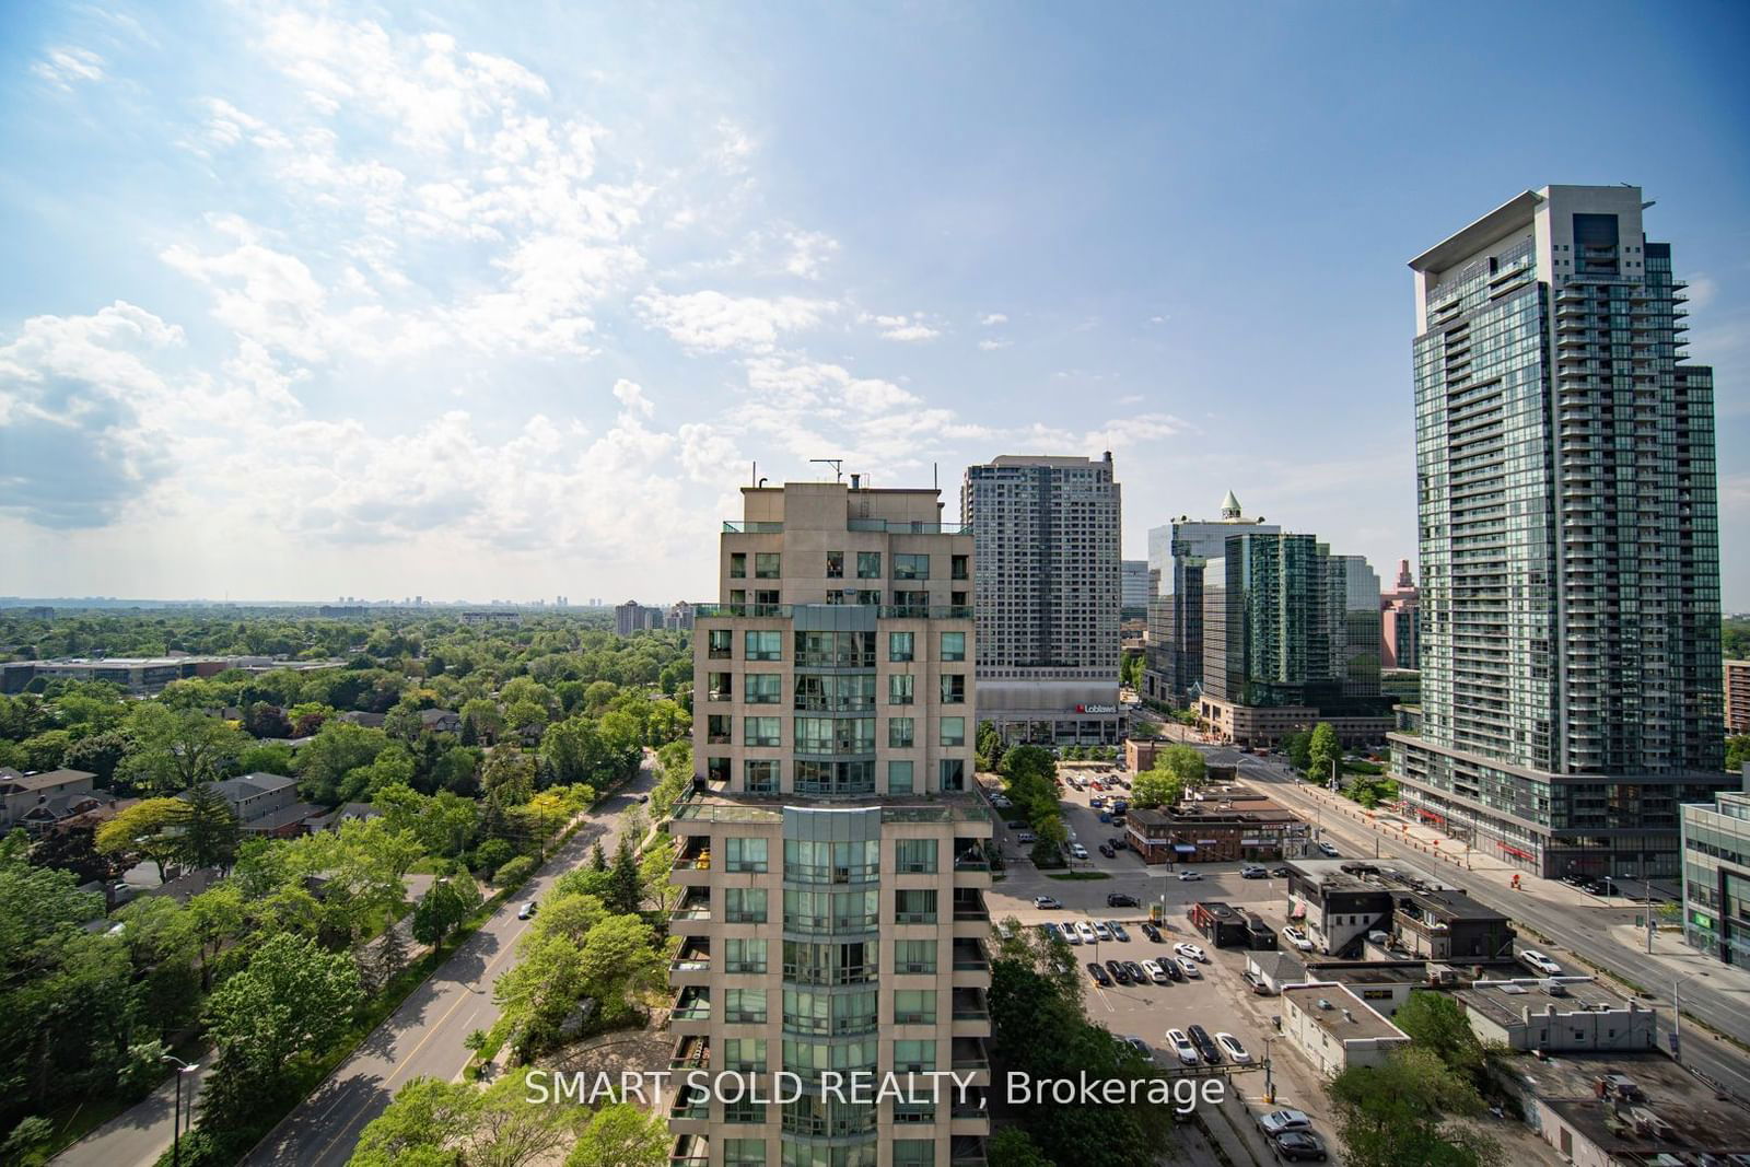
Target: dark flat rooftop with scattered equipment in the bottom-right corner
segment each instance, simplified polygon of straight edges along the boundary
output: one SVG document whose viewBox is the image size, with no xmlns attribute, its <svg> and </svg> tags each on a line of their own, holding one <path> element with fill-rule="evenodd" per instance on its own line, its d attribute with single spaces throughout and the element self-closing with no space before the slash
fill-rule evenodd
<svg viewBox="0 0 1750 1167">
<path fill-rule="evenodd" d="M 1614 1164 L 1654 1165 L 1699 1164 L 1701 1155 L 1750 1153 L 1750 1123 L 1743 1108 L 1720 1101 L 1664 1053 L 1572 1053 L 1538 1060 L 1530 1053 L 1503 1057 L 1498 1073 L 1519 1080 L 1544 1099 L 1558 1118 L 1612 1157 Z M 1640 1109 L 1659 1120 L 1624 1123 L 1614 1118 L 1614 1101 L 1598 1097 L 1605 1076 L 1629 1080 L 1642 1095 L 1624 1101 L 1629 1115 Z"/>
</svg>

